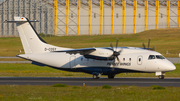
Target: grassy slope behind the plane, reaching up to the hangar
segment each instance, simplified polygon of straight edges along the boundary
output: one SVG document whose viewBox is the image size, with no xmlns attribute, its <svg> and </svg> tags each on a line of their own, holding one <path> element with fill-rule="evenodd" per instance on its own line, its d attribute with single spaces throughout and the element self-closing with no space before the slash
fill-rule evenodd
<svg viewBox="0 0 180 101">
<path fill-rule="evenodd" d="M 178 57 L 180 44 L 180 28 L 168 28 L 148 30 L 136 34 L 117 34 L 117 35 L 92 35 L 92 36 L 60 36 L 43 37 L 49 44 L 71 47 L 109 47 L 109 43 L 115 46 L 116 38 L 119 39 L 119 46 L 142 47 L 142 42 L 147 46 L 148 38 L 151 38 L 151 47 L 155 46 L 156 51 L 162 53 L 165 57 Z M 43 35 L 41 35 L 43 36 Z M 24 53 L 19 37 L 1 37 L 0 55 L 16 56 Z M 168 51 L 169 54 L 166 54 Z"/>
</svg>

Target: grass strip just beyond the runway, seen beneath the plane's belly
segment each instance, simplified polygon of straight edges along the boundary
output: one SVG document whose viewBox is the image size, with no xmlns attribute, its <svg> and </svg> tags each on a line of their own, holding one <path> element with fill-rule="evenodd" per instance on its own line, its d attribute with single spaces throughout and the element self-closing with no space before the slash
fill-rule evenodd
<svg viewBox="0 0 180 101">
<path fill-rule="evenodd" d="M 175 64 L 176 70 L 167 72 L 165 77 L 180 77 L 180 64 Z M 67 72 L 50 67 L 40 67 L 32 64 L 0 64 L 0 76 L 8 77 L 92 77 L 82 72 Z M 102 77 L 107 77 L 103 76 Z M 154 73 L 121 73 L 115 77 L 155 77 Z"/>
</svg>

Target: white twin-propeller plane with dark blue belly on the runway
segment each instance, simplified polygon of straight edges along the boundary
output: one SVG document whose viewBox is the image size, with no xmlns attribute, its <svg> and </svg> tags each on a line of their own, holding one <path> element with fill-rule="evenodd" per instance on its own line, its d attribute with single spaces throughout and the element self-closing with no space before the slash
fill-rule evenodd
<svg viewBox="0 0 180 101">
<path fill-rule="evenodd" d="M 14 17 L 25 54 L 17 57 L 32 61 L 32 64 L 49 66 L 59 70 L 85 72 L 93 78 L 108 75 L 114 78 L 119 73 L 155 73 L 164 79 L 165 72 L 176 69 L 174 64 L 160 53 L 148 48 L 116 47 L 71 49 L 47 44 L 39 37 L 31 22 L 25 17 Z M 143 44 L 144 45 L 144 44 Z"/>
</svg>

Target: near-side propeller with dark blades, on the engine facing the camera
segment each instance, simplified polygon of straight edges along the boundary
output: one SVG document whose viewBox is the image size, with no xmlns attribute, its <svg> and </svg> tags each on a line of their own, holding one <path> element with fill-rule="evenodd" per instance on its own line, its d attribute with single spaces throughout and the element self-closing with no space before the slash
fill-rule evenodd
<svg viewBox="0 0 180 101">
<path fill-rule="evenodd" d="M 112 58 L 112 59 L 114 60 L 114 63 L 115 63 L 115 60 L 117 59 L 118 62 L 119 62 L 119 64 L 120 64 L 120 60 L 119 60 L 118 56 L 119 56 L 120 53 L 122 52 L 122 49 L 119 50 L 119 51 L 117 51 L 118 39 L 116 39 L 116 49 L 114 50 L 112 43 L 110 43 L 110 47 L 111 47 L 111 49 L 112 49 L 112 51 L 113 51 L 113 54 L 111 55 L 110 58 Z M 113 68 L 113 70 L 114 70 L 114 68 Z"/>
</svg>

